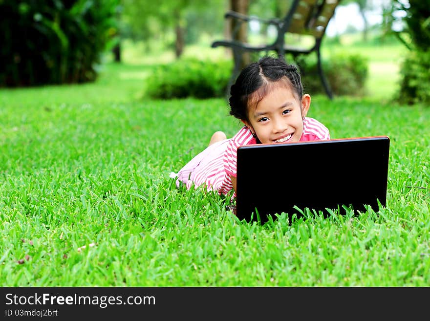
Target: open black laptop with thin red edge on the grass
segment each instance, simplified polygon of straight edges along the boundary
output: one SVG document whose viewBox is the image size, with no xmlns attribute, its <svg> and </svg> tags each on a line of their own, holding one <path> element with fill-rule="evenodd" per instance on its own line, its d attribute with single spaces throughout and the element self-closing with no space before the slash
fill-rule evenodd
<svg viewBox="0 0 430 321">
<path fill-rule="evenodd" d="M 237 149 L 236 214 L 265 223 L 329 210 L 379 211 L 387 201 L 389 138 L 354 137 Z M 299 209 L 300 211 L 298 211 Z M 291 220 L 290 220 L 291 221 Z"/>
</svg>

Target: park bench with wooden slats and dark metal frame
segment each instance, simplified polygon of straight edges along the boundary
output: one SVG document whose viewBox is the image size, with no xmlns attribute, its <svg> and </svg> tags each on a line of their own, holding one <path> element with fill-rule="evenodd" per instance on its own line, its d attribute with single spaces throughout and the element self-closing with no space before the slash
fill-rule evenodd
<svg viewBox="0 0 430 321">
<path fill-rule="evenodd" d="M 325 33 L 328 22 L 333 17 L 335 9 L 340 0 L 293 0 L 288 12 L 282 19 L 260 19 L 255 16 L 246 16 L 234 11 L 229 11 L 225 14 L 225 19 L 235 20 L 235 29 L 232 30 L 232 39 L 215 41 L 212 47 L 225 46 L 233 50 L 234 68 L 230 84 L 235 81 L 240 72 L 242 55 L 246 52 L 266 52 L 266 55 L 271 51 L 277 53 L 278 57 L 292 54 L 296 59 L 298 55 L 308 55 L 315 52 L 317 55 L 318 73 L 323 84 L 327 96 L 332 99 L 333 93 L 324 76 L 323 67 L 321 64 L 321 42 Z M 260 24 L 267 26 L 272 25 L 276 28 L 276 38 L 272 43 L 254 45 L 250 43 L 242 43 L 237 41 L 236 33 L 242 25 L 248 24 L 251 21 L 258 21 Z M 308 47 L 291 46 L 285 44 L 285 36 L 289 34 L 307 35 L 314 39 L 314 44 Z"/>
</svg>

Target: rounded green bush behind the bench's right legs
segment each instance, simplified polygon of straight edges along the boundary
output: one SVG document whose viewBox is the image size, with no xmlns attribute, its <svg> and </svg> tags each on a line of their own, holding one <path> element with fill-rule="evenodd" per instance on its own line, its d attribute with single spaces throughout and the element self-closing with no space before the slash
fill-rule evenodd
<svg viewBox="0 0 430 321">
<path fill-rule="evenodd" d="M 312 56 L 296 60 L 302 74 L 304 90 L 310 94 L 325 93 Z M 322 62 L 323 72 L 335 95 L 363 96 L 368 75 L 368 59 L 358 54 L 336 54 Z"/>
</svg>

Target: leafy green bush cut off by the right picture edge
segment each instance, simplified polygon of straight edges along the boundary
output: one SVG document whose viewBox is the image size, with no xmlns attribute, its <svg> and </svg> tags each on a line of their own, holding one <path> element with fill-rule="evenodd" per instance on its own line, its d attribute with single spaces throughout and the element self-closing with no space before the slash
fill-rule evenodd
<svg viewBox="0 0 430 321">
<path fill-rule="evenodd" d="M 401 103 L 430 104 L 430 50 L 409 51 L 400 68 L 400 91 L 396 99 Z"/>
</svg>

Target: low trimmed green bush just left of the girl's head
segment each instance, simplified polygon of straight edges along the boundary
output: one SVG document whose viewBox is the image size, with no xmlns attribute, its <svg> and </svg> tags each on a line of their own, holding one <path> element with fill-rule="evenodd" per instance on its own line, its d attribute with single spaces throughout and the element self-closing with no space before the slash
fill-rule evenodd
<svg viewBox="0 0 430 321">
<path fill-rule="evenodd" d="M 230 61 L 179 59 L 154 69 L 146 84 L 151 98 L 210 98 L 225 96 L 233 64 Z"/>
</svg>

